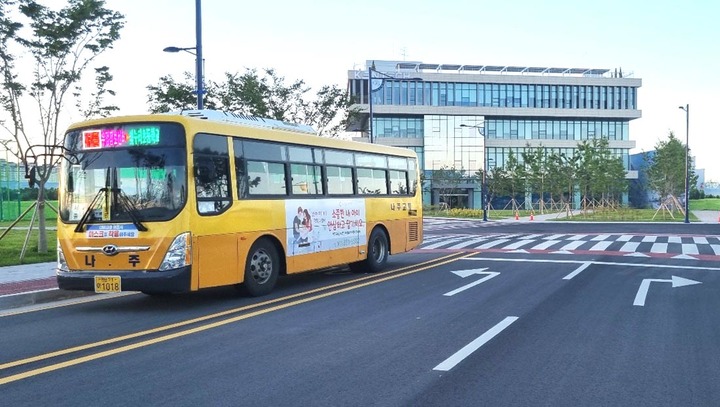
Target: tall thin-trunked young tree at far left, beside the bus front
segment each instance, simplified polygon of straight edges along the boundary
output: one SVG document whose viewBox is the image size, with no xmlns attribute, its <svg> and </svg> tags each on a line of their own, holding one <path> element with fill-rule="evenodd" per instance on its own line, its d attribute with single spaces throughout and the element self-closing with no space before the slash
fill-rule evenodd
<svg viewBox="0 0 720 407">
<path fill-rule="evenodd" d="M 0 104 L 4 109 L 0 125 L 20 146 L 19 159 L 26 168 L 36 169 L 36 179 L 31 181 L 39 188 L 38 252 L 47 252 L 44 191 L 62 145 L 63 109 L 78 97 L 78 85 L 92 61 L 120 37 L 123 19 L 122 14 L 105 8 L 102 0 L 68 0 L 58 11 L 32 0 L 0 2 Z M 24 69 L 18 66 L 23 55 L 32 61 L 29 79 L 21 77 Z M 106 67 L 96 74 L 96 83 L 102 86 L 96 96 L 103 97 L 112 76 Z M 32 113 L 37 125 L 27 125 L 27 99 L 32 101 L 29 106 L 34 106 L 28 110 L 37 109 Z M 108 110 L 113 110 L 112 106 L 98 102 L 85 113 L 102 115 Z M 28 150 L 36 144 L 40 146 Z"/>
</svg>

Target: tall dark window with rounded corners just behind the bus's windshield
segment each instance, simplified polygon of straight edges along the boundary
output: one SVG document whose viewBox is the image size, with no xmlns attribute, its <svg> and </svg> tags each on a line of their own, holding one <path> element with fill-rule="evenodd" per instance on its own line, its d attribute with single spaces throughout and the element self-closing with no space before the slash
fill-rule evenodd
<svg viewBox="0 0 720 407">
<path fill-rule="evenodd" d="M 198 134 L 193 158 L 198 212 L 213 215 L 225 211 L 231 203 L 227 137 Z"/>
</svg>

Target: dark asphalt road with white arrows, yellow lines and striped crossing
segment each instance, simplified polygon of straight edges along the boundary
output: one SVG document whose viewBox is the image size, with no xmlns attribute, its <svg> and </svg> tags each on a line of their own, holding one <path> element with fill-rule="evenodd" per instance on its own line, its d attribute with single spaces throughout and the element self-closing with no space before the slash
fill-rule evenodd
<svg viewBox="0 0 720 407">
<path fill-rule="evenodd" d="M 718 228 L 686 226 L 430 222 L 376 275 L 13 310 L 2 403 L 714 406 Z"/>
</svg>

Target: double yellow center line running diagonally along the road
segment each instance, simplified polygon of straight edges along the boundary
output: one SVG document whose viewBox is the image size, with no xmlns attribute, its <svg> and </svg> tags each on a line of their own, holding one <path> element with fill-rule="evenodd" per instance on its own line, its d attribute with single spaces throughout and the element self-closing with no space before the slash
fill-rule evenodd
<svg viewBox="0 0 720 407">
<path fill-rule="evenodd" d="M 20 380 L 20 379 L 23 379 L 23 378 L 26 378 L 26 377 L 34 376 L 34 375 L 37 375 L 37 374 L 41 374 L 41 373 L 45 373 L 45 372 L 50 372 L 50 371 L 53 371 L 53 370 L 61 369 L 61 368 L 63 368 L 63 367 L 72 366 L 72 365 L 84 363 L 84 362 L 87 362 L 87 361 L 90 361 L 90 360 L 95 360 L 95 359 L 103 358 L 103 357 L 106 357 L 106 356 L 114 355 L 114 354 L 117 354 L 117 353 L 126 352 L 126 351 L 128 351 L 128 350 L 136 349 L 136 348 L 139 348 L 139 347 L 142 347 L 142 346 L 147 346 L 147 345 L 154 344 L 154 343 L 164 342 L 164 341 L 167 341 L 167 340 L 170 340 L 170 339 L 173 339 L 173 338 L 177 338 L 177 337 L 180 337 L 180 336 L 185 336 L 185 335 L 189 335 L 189 334 L 192 334 L 192 333 L 204 331 L 204 330 L 207 330 L 207 329 L 216 328 L 216 327 L 218 327 L 218 326 L 226 325 L 226 324 L 228 324 L 228 323 L 241 321 L 241 320 L 243 320 L 243 319 L 247 319 L 247 318 L 251 318 L 251 317 L 254 317 L 254 316 L 257 316 L 257 315 L 262 315 L 262 314 L 265 314 L 265 313 L 268 313 L 268 312 L 273 312 L 273 311 L 277 311 L 277 310 L 280 310 L 280 309 L 283 309 L 283 308 L 287 308 L 287 307 L 291 307 L 291 306 L 303 304 L 303 303 L 305 303 L 305 302 L 309 302 L 309 301 L 314 301 L 314 300 L 317 300 L 317 299 L 325 298 L 325 297 L 328 297 L 328 296 L 331 296 L 331 295 L 343 293 L 343 292 L 350 291 L 350 290 L 353 290 L 353 289 L 356 289 L 356 288 L 365 287 L 365 286 L 368 286 L 368 285 L 371 285 L 371 284 L 376 284 L 376 283 L 384 282 L 384 281 L 387 281 L 387 280 L 391 280 L 391 279 L 394 279 L 394 278 L 398 278 L 398 277 L 402 277 L 402 276 L 405 276 L 405 275 L 408 275 L 408 274 L 412 274 L 412 273 L 416 273 L 416 272 L 419 272 L 419 271 L 422 271 L 422 270 L 426 270 L 426 269 L 428 269 L 428 268 L 432 268 L 432 267 L 435 267 L 435 266 L 440 266 L 440 265 L 443 265 L 443 264 L 451 263 L 451 262 L 453 262 L 453 261 L 459 260 L 459 259 L 464 258 L 464 257 L 471 256 L 471 255 L 473 255 L 473 254 L 474 254 L 474 253 L 467 253 L 467 254 L 463 254 L 462 256 L 458 256 L 457 253 L 454 253 L 454 254 L 451 254 L 451 255 L 448 255 L 448 256 L 444 256 L 444 257 L 440 257 L 440 258 L 437 258 L 437 259 L 429 260 L 429 261 L 426 261 L 426 262 L 423 262 L 423 263 L 420 263 L 420 264 L 415 264 L 415 265 L 412 265 L 412 266 L 406 266 L 406 267 L 402 267 L 402 268 L 399 268 L 399 269 L 396 269 L 396 270 L 387 271 L 387 272 L 381 273 L 381 274 L 379 274 L 379 275 L 378 275 L 378 274 L 369 275 L 369 276 L 362 277 L 362 278 L 359 278 L 359 279 L 354 279 L 354 280 L 351 280 L 351 281 L 346 281 L 346 282 L 342 282 L 342 283 L 333 284 L 333 285 L 330 285 L 330 286 L 320 287 L 320 288 L 316 288 L 316 289 L 313 289 L 313 290 L 310 290 L 310 291 L 304 291 L 304 292 L 302 292 L 302 293 L 297 293 L 297 294 L 293 294 L 293 295 L 289 295 L 289 296 L 285 296 L 285 297 L 281 297 L 281 298 L 276 298 L 276 299 L 274 299 L 274 300 L 264 301 L 264 302 L 261 302 L 261 303 L 258 303 L 258 304 L 247 305 L 247 306 L 243 306 L 243 307 L 239 307 L 239 308 L 235 308 L 235 309 L 231 309 L 231 310 L 227 310 L 227 311 L 218 312 L 218 313 L 215 313 L 215 314 L 206 315 L 206 316 L 199 317 L 199 318 L 194 318 L 194 319 L 190 319 L 190 320 L 186 320 L 186 321 L 182 321 L 182 322 L 178 322 L 178 323 L 174 323 L 174 324 L 170 324 L 170 325 L 161 326 L 161 327 L 158 327 L 158 328 L 148 329 L 148 330 L 145 330 L 145 331 L 140 331 L 140 332 L 136 332 L 136 333 L 132 333 L 132 334 L 128 334 L 128 335 L 118 336 L 118 337 L 111 338 L 111 339 L 107 339 L 107 340 L 103 340 L 103 341 L 93 342 L 93 343 L 89 343 L 89 344 L 86 344 L 86 345 L 80 345 L 80 346 L 76 346 L 76 347 L 72 347 L 72 348 L 67 348 L 67 349 L 59 350 L 59 351 L 56 351 L 56 352 L 50 352 L 50 353 L 46 353 L 46 354 L 42 354 L 42 355 L 38 355 L 38 356 L 33 356 L 33 357 L 30 357 L 30 358 L 25 358 L 25 359 L 13 361 L 13 362 L 8 362 L 8 363 L 0 364 L 0 370 L 4 370 L 4 369 L 11 368 L 11 367 L 16 367 L 16 366 L 24 365 L 24 364 L 27 364 L 27 363 L 37 362 L 37 361 L 41 361 L 41 360 L 45 360 L 45 359 L 50 359 L 50 358 L 53 358 L 53 357 L 62 356 L 62 355 L 67 355 L 67 354 L 70 354 L 70 353 L 79 352 L 79 351 L 87 350 L 87 349 L 92 349 L 92 348 L 96 348 L 96 347 L 100 347 L 100 346 L 104 346 L 104 345 L 110 345 L 110 344 L 117 343 L 117 342 L 121 342 L 121 341 L 125 341 L 125 340 L 128 340 L 128 339 L 134 339 L 134 338 L 138 338 L 138 337 L 142 337 L 142 336 L 147 336 L 147 335 L 151 335 L 151 334 L 154 334 L 154 333 L 158 333 L 158 332 L 162 332 L 162 331 L 167 331 L 167 330 L 170 330 L 170 329 L 183 327 L 183 326 L 186 326 L 186 325 L 190 325 L 190 324 L 194 324 L 194 323 L 198 323 L 198 322 L 207 321 L 207 320 L 209 320 L 209 319 L 219 318 L 219 317 L 223 317 L 223 316 L 226 316 L 226 315 L 229 315 L 229 314 L 234 314 L 234 313 L 246 311 L 246 310 L 253 309 L 253 308 L 263 307 L 263 306 L 266 306 L 266 305 L 270 305 L 270 304 L 274 304 L 274 303 L 278 303 L 278 302 L 282 302 L 282 301 L 287 301 L 287 300 L 290 300 L 290 299 L 293 299 L 293 298 L 297 298 L 297 297 L 312 295 L 312 294 L 315 294 L 315 293 L 320 292 L 320 291 L 332 290 L 332 289 L 335 289 L 335 288 L 338 288 L 338 287 L 342 287 L 342 286 L 346 286 L 346 285 L 350 285 L 350 284 L 353 284 L 353 283 L 362 282 L 362 281 L 365 281 L 365 280 L 372 280 L 372 281 L 367 281 L 367 282 L 365 282 L 365 283 L 363 283 L 363 284 L 357 284 L 357 285 L 356 285 L 356 284 L 353 284 L 351 287 L 346 287 L 346 288 L 341 289 L 341 290 L 331 291 L 331 292 L 329 292 L 329 293 L 320 294 L 320 295 L 317 295 L 317 296 L 314 296 L 314 297 L 309 297 L 309 298 L 301 299 L 301 300 L 294 301 L 294 302 L 290 302 L 290 303 L 286 303 L 286 304 L 276 305 L 276 306 L 271 307 L 271 308 L 267 308 L 267 309 L 264 309 L 264 310 L 259 310 L 259 311 L 256 311 L 256 312 L 253 312 L 253 313 L 250 313 L 250 314 L 244 314 L 244 315 L 241 315 L 241 316 L 237 316 L 237 317 L 234 317 L 234 318 L 231 318 L 231 319 L 219 321 L 219 322 L 216 322 L 216 323 L 212 323 L 212 324 L 208 324 L 208 325 L 203 325 L 203 326 L 201 326 L 201 327 L 191 328 L 191 329 L 188 329 L 188 330 L 185 330 L 185 331 L 182 331 L 182 332 L 177 332 L 177 333 L 174 333 L 174 334 L 165 335 L 165 336 L 158 337 L 158 338 L 155 338 L 155 339 L 149 339 L 149 340 L 146 340 L 146 341 L 138 342 L 138 343 L 136 343 L 136 344 L 131 344 L 131 345 L 119 347 L 119 348 L 116 348 L 116 349 L 111 349 L 111 350 L 108 350 L 108 351 L 96 353 L 96 354 L 94 354 L 94 355 L 88 355 L 88 356 L 81 357 L 81 358 L 78 358 L 78 359 L 73 359 L 73 360 L 70 360 L 70 361 L 67 361 L 67 362 L 62 362 L 62 363 L 58 363 L 58 364 L 55 364 L 55 365 L 50 365 L 50 366 L 45 367 L 45 368 L 39 368 L 39 369 L 31 370 L 31 371 L 28 371 L 28 372 L 26 372 L 26 373 L 20 373 L 20 374 L 17 374 L 17 375 L 8 376 L 8 377 L 5 377 L 5 378 L 0 379 L 0 385 L 6 384 L 6 383 L 10 383 L 10 382 L 13 382 L 13 381 L 16 381 L 16 380 Z M 409 271 L 402 272 L 402 270 L 408 270 L 408 269 L 410 269 L 410 270 L 409 270 Z M 378 276 L 382 276 L 383 274 L 397 273 L 398 271 L 401 271 L 401 273 L 399 273 L 399 274 L 393 274 L 393 275 L 390 275 L 390 276 L 387 276 L 387 277 L 380 277 L 380 278 L 378 278 Z"/>
</svg>

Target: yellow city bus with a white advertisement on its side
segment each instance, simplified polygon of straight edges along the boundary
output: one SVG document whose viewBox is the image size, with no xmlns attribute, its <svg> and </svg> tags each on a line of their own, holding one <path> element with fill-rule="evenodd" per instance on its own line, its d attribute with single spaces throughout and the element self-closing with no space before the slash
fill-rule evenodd
<svg viewBox="0 0 720 407">
<path fill-rule="evenodd" d="M 417 156 L 202 110 L 76 123 L 60 171 L 62 289 L 178 293 L 348 264 L 422 242 Z"/>
</svg>

